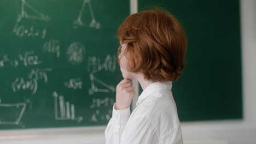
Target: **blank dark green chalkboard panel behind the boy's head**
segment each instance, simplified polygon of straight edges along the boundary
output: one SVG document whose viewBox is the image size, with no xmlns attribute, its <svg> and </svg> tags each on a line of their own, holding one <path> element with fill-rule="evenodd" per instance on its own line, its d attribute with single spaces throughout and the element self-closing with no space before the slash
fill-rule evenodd
<svg viewBox="0 0 256 144">
<path fill-rule="evenodd" d="M 170 11 L 183 25 L 188 51 L 172 92 L 181 121 L 242 118 L 240 4 L 232 1 L 139 0 Z"/>
</svg>

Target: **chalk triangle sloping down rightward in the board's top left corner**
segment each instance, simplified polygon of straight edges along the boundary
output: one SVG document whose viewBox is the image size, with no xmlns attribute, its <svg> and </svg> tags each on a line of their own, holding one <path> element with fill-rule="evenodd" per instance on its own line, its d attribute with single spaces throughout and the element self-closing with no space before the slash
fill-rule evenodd
<svg viewBox="0 0 256 144">
<path fill-rule="evenodd" d="M 32 5 L 28 4 L 26 0 L 21 0 L 21 14 L 18 14 L 18 22 L 21 21 L 22 18 L 26 19 L 36 19 L 42 21 L 50 21 L 51 18 L 48 15 L 44 15 L 36 10 Z"/>
</svg>

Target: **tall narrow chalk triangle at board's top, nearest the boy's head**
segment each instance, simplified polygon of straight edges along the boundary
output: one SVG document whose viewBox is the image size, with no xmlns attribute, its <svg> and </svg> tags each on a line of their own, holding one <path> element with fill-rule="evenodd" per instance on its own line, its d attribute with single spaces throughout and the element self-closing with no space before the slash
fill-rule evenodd
<svg viewBox="0 0 256 144">
<path fill-rule="evenodd" d="M 85 9 L 85 7 L 87 7 L 88 9 Z M 85 10 L 89 10 L 89 11 L 85 13 L 84 12 Z M 101 27 L 100 22 L 96 22 L 95 20 L 94 11 L 92 10 L 90 0 L 83 1 L 77 20 L 75 20 L 73 24 L 74 24 L 74 28 L 78 28 L 78 26 L 88 26 L 88 27 L 99 29 Z"/>
</svg>

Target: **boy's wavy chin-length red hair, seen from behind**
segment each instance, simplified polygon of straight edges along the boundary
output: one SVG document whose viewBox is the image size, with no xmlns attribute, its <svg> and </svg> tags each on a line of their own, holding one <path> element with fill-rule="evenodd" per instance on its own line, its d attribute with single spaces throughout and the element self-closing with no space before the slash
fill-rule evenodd
<svg viewBox="0 0 256 144">
<path fill-rule="evenodd" d="M 127 70 L 152 81 L 176 81 L 184 69 L 187 37 L 178 20 L 163 10 L 145 10 L 127 17 L 118 29 L 127 44 Z M 121 46 L 118 48 L 120 54 Z M 120 64 L 120 58 L 118 58 Z"/>
</svg>

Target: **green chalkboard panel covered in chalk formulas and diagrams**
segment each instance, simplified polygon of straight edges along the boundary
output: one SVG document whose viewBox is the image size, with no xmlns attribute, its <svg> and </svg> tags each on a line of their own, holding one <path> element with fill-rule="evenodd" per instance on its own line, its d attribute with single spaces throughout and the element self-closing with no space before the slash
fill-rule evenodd
<svg viewBox="0 0 256 144">
<path fill-rule="evenodd" d="M 106 125 L 129 1 L 2 0 L 0 129 Z"/>
</svg>

